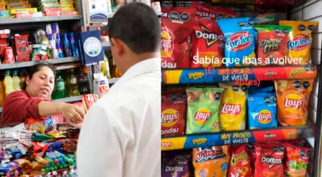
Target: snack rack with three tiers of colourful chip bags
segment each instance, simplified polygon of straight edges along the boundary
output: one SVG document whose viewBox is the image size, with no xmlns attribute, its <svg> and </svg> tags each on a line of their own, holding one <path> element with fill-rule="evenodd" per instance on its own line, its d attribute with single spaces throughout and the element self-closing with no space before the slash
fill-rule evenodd
<svg viewBox="0 0 322 177">
<path fill-rule="evenodd" d="M 322 176 L 322 1 L 160 5 L 162 176 Z"/>
</svg>

